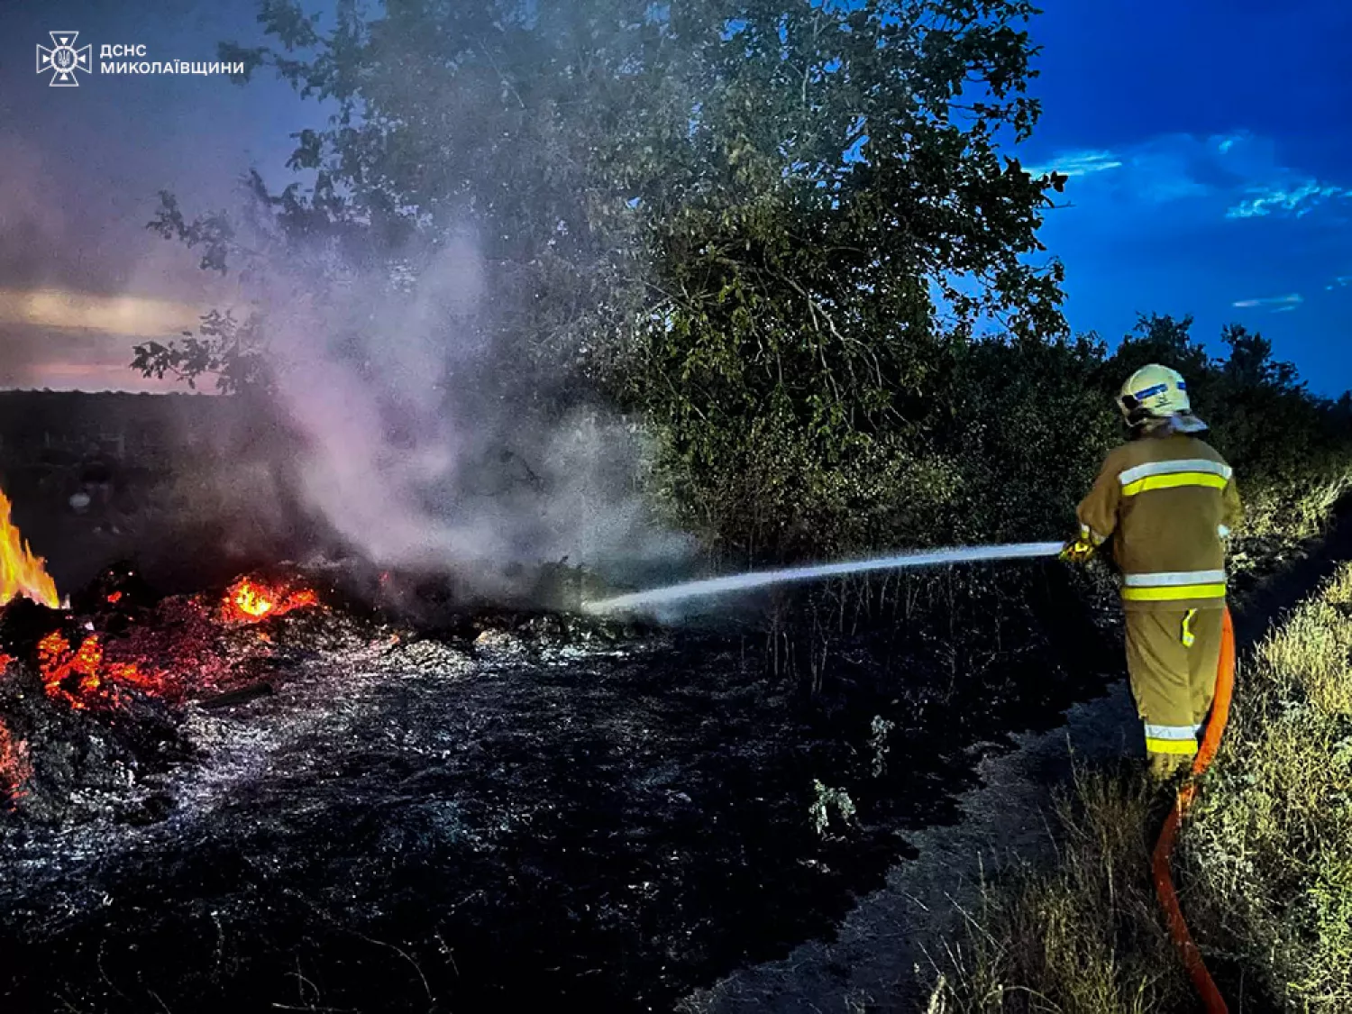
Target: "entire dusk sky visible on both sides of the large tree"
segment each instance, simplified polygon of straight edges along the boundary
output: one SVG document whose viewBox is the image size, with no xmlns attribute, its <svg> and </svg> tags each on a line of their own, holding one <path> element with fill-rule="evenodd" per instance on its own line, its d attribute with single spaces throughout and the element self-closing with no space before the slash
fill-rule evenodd
<svg viewBox="0 0 1352 1014">
<path fill-rule="evenodd" d="M 1352 4 L 1045 0 L 1017 154 L 1071 176 L 1042 239 L 1067 264 L 1075 330 L 1117 338 L 1138 312 L 1237 320 L 1321 393 L 1352 387 Z M 280 183 L 288 135 L 322 119 L 285 85 L 81 76 L 49 88 L 35 47 L 143 43 L 210 59 L 258 41 L 256 0 L 0 0 L 0 387 L 135 388 L 143 337 L 228 297 L 145 230 L 157 191 L 228 208 L 250 166 Z"/>
</svg>

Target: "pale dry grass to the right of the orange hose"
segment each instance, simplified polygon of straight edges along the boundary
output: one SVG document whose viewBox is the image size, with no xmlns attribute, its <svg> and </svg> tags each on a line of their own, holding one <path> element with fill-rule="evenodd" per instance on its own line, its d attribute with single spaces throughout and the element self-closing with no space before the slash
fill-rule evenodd
<svg viewBox="0 0 1352 1014">
<path fill-rule="evenodd" d="M 1287 1010 L 1352 1010 L 1352 566 L 1264 641 L 1184 829 L 1197 919 Z"/>
</svg>

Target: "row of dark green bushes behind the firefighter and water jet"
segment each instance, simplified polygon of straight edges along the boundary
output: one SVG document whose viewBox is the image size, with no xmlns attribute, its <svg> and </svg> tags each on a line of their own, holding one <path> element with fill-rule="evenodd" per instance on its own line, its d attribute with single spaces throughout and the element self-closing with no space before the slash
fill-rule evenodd
<svg viewBox="0 0 1352 1014">
<path fill-rule="evenodd" d="M 1190 326 L 1141 318 L 1111 356 L 1094 335 L 911 343 L 919 393 L 872 389 L 887 402 L 867 427 L 803 419 L 796 396 L 773 389 L 715 414 L 684 395 L 672 402 L 667 385 L 658 404 L 639 407 L 668 420 L 658 473 L 672 512 L 725 565 L 1053 539 L 1073 530 L 1076 503 L 1125 438 L 1122 381 L 1163 362 L 1188 379 L 1209 439 L 1236 468 L 1241 545 L 1263 544 L 1238 558 L 1270 556 L 1272 542 L 1317 533 L 1352 488 L 1352 425 L 1260 335 L 1228 327 L 1229 354 L 1211 358 Z"/>
</svg>

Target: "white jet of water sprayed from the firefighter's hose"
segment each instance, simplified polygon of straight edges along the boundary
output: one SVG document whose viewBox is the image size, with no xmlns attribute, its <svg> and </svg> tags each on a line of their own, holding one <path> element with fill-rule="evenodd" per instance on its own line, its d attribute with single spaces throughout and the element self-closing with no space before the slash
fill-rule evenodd
<svg viewBox="0 0 1352 1014">
<path fill-rule="evenodd" d="M 587 612 L 618 612 L 644 606 L 662 606 L 683 599 L 696 599 L 706 595 L 763 588 L 768 584 L 786 581 L 810 581 L 815 577 L 837 577 L 865 571 L 895 571 L 907 566 L 934 566 L 938 564 L 979 564 L 988 560 L 1033 560 L 1056 556 L 1061 542 L 1019 542 L 1007 546 L 956 546 L 950 549 L 925 549 L 899 556 L 883 556 L 873 560 L 853 560 L 840 564 L 818 564 L 815 566 L 790 566 L 781 571 L 753 571 L 729 577 L 710 577 L 703 581 L 669 584 L 665 588 L 652 588 L 631 595 L 617 595 L 611 599 L 584 602 Z"/>
</svg>

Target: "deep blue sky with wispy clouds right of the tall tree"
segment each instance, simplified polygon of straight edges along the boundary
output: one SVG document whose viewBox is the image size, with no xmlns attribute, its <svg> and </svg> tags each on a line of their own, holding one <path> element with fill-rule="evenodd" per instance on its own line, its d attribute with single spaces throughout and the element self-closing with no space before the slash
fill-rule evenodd
<svg viewBox="0 0 1352 1014">
<path fill-rule="evenodd" d="M 1192 314 L 1210 343 L 1234 320 L 1313 389 L 1352 387 L 1352 4 L 1044 7 L 1019 158 L 1071 177 L 1042 231 L 1071 326 Z"/>
</svg>

